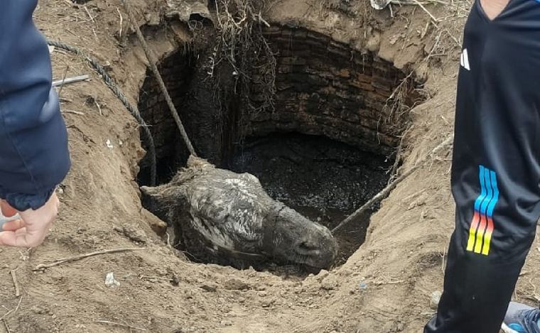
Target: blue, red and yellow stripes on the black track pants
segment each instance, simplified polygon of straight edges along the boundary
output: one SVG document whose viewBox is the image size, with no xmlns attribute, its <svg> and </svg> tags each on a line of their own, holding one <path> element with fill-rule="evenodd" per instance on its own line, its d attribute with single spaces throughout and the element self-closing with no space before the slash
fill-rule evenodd
<svg viewBox="0 0 540 333">
<path fill-rule="evenodd" d="M 480 165 L 480 195 L 475 201 L 475 211 L 470 224 L 467 251 L 482 253 L 487 256 L 490 253 L 491 236 L 494 229 L 493 211 L 499 200 L 497 188 L 497 173 Z"/>
</svg>

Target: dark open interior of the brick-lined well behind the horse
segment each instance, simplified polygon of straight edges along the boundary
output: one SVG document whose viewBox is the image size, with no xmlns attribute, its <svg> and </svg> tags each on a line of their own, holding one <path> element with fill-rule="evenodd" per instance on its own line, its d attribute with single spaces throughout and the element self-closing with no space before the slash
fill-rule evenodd
<svg viewBox="0 0 540 333">
<path fill-rule="evenodd" d="M 273 27 L 264 35 L 276 54 L 274 109 L 239 107 L 241 98 L 231 92 L 239 80 L 234 75 L 210 80 L 205 59 L 212 48 L 198 56 L 178 51 L 159 68 L 199 155 L 256 175 L 271 197 L 332 229 L 387 185 L 406 126 L 403 110 L 419 102 L 418 86 L 391 63 L 320 33 Z M 253 105 L 265 100 L 259 79 L 250 76 Z M 227 86 L 233 88 L 219 88 Z M 188 153 L 149 72 L 139 109 L 156 142 L 158 182 L 168 182 Z M 148 160 L 140 165 L 139 184 L 148 185 Z M 371 214 L 335 235 L 336 264 L 364 242 Z"/>
</svg>

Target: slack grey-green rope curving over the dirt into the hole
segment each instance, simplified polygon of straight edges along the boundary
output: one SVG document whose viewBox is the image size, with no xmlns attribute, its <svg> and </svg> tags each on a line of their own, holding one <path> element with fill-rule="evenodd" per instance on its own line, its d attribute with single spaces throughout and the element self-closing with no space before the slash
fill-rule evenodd
<svg viewBox="0 0 540 333">
<path fill-rule="evenodd" d="M 96 72 L 102 76 L 103 81 L 105 84 L 107 84 L 107 87 L 114 92 L 115 95 L 117 95 L 118 99 L 124 104 L 124 107 L 129 111 L 129 113 L 134 116 L 136 121 L 139 122 L 139 125 L 141 126 L 144 138 L 146 139 L 146 144 L 148 145 L 148 156 L 150 158 L 150 185 L 155 186 L 156 185 L 156 147 L 153 144 L 153 138 L 152 133 L 150 132 L 150 129 L 148 129 L 148 125 L 146 125 L 146 122 L 142 118 L 141 114 L 139 113 L 139 110 L 136 109 L 133 105 L 129 104 L 126 96 L 123 92 L 121 92 L 118 85 L 112 80 L 112 78 L 107 74 L 105 69 L 102 65 L 99 65 L 99 62 L 92 58 L 90 55 L 85 53 L 85 51 L 80 50 L 80 48 L 75 48 L 75 46 L 71 46 L 62 42 L 59 42 L 57 40 L 47 40 L 48 45 L 55 46 L 56 48 L 61 48 L 63 50 L 70 51 L 71 53 L 75 53 L 76 55 L 79 55 L 81 58 L 85 58 L 88 62 L 90 62 L 90 65 L 94 67 Z"/>
</svg>

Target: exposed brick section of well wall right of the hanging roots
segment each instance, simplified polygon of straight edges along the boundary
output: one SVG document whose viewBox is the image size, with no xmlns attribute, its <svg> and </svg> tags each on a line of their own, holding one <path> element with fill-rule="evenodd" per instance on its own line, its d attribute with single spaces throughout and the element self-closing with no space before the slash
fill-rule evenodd
<svg viewBox="0 0 540 333">
<path fill-rule="evenodd" d="M 385 105 L 404 72 L 313 31 L 272 27 L 264 34 L 276 53 L 275 109 L 250 114 L 245 135 L 293 131 L 382 154 L 397 146 L 400 133 L 392 126 L 397 124 L 385 121 L 390 110 Z M 263 100 L 257 78 L 256 103 Z M 413 103 L 412 95 L 406 103 Z"/>
</svg>

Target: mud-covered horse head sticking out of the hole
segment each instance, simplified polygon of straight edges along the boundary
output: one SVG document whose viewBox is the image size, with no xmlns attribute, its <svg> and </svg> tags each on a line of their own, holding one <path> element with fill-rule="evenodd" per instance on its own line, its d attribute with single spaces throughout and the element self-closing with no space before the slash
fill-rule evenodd
<svg viewBox="0 0 540 333">
<path fill-rule="evenodd" d="M 175 244 L 196 261 L 329 268 L 337 256 L 329 229 L 273 200 L 249 173 L 191 156 L 171 182 L 141 190 L 153 213 L 173 226 Z"/>
</svg>

